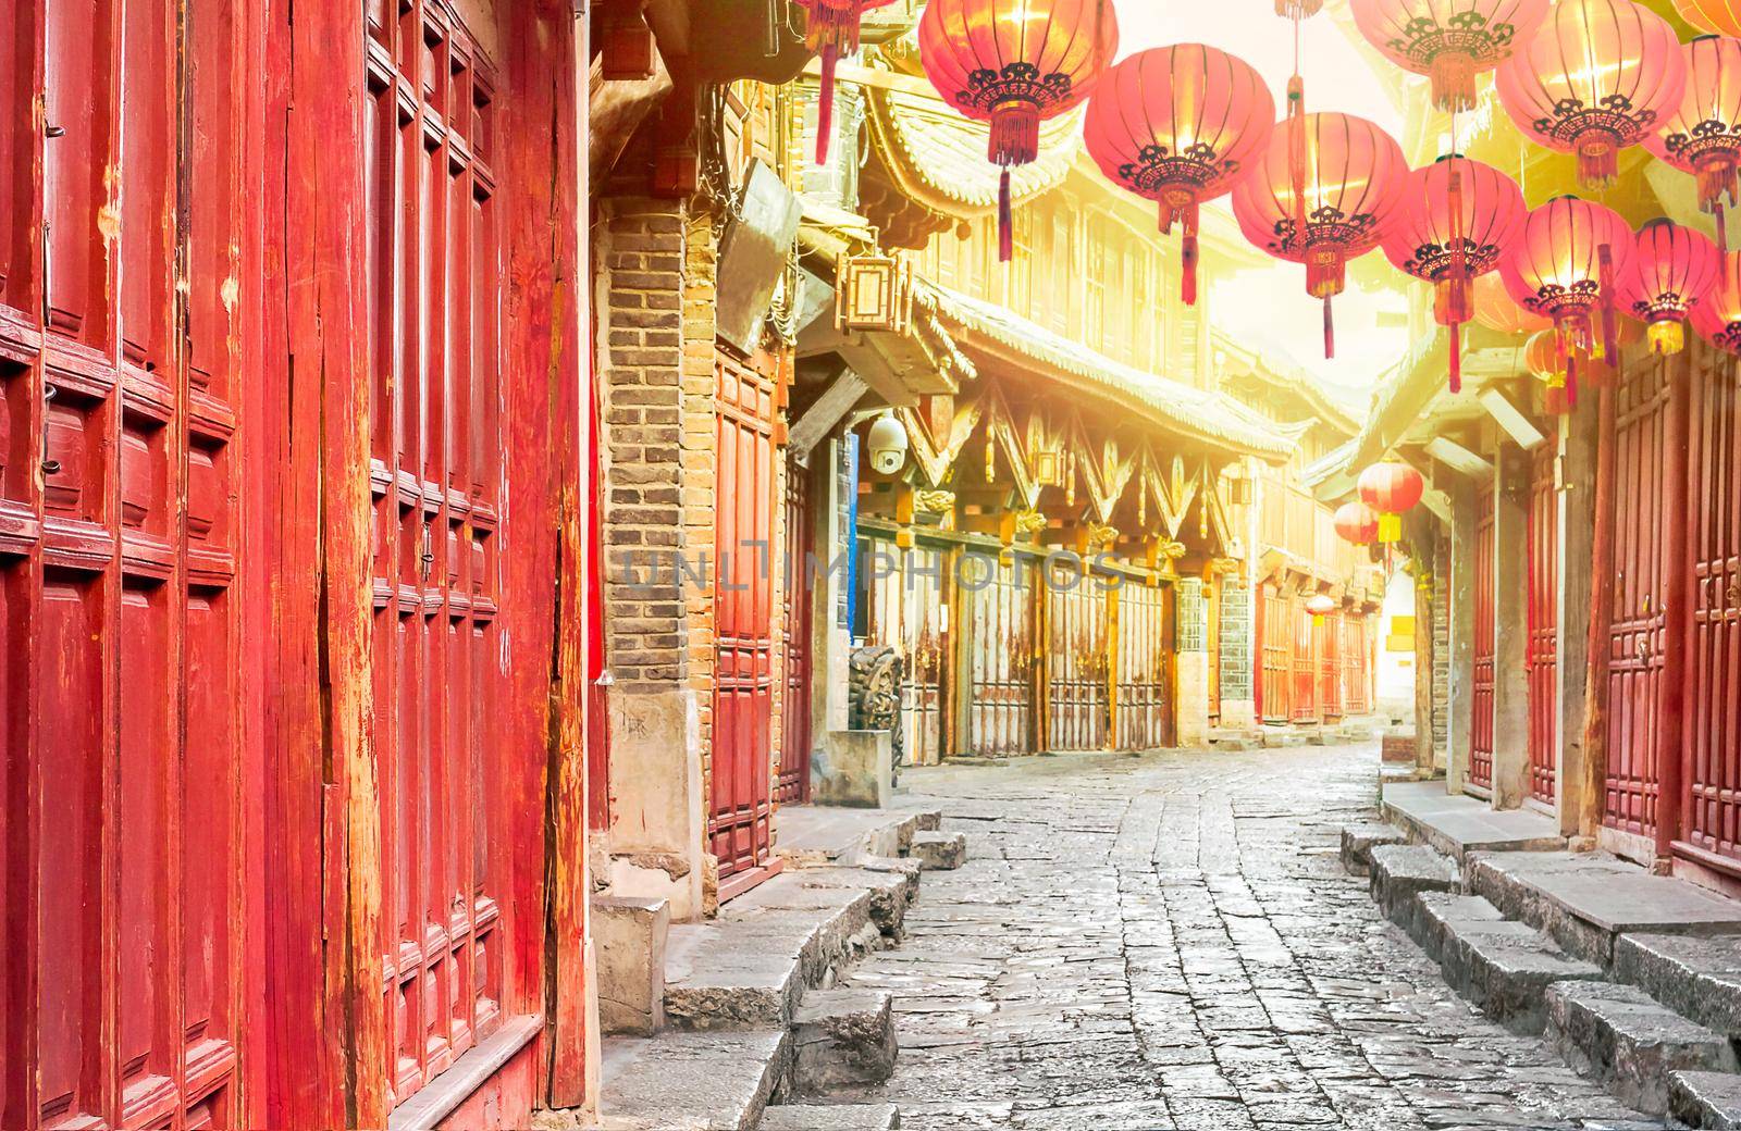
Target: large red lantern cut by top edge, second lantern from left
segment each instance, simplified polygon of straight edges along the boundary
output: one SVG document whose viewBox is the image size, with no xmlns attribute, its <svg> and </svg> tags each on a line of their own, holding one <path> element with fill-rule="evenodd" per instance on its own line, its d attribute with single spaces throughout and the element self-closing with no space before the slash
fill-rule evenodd
<svg viewBox="0 0 1741 1131">
<path fill-rule="evenodd" d="M 998 259 L 1010 261 L 1010 167 L 1039 157 L 1039 124 L 1093 90 L 1118 54 L 1111 0 L 930 0 L 919 61 L 944 101 L 991 122 Z"/>
</svg>

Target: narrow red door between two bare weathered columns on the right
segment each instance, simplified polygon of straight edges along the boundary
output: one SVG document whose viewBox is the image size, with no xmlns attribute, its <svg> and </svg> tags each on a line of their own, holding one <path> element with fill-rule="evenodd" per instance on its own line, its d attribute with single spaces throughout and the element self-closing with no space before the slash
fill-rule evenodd
<svg viewBox="0 0 1741 1131">
<path fill-rule="evenodd" d="M 1556 654 L 1560 623 L 1560 517 L 1553 487 L 1555 451 L 1536 454 L 1529 508 L 1529 792 L 1551 802 L 1560 719 Z"/>
</svg>

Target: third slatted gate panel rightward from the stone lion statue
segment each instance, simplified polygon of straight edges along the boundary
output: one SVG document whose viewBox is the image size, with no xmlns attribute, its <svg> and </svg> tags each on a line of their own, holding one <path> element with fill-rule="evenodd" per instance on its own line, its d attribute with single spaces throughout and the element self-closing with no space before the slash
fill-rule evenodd
<svg viewBox="0 0 1741 1131">
<path fill-rule="evenodd" d="M 1046 569 L 1046 748 L 1104 750 L 1111 726 L 1107 581 L 1076 560 L 1053 560 Z"/>
</svg>

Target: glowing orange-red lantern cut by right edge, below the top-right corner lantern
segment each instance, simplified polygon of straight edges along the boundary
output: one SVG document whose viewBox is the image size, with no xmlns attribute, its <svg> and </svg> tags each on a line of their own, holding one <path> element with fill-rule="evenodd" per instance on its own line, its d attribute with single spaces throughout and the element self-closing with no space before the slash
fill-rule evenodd
<svg viewBox="0 0 1741 1131">
<path fill-rule="evenodd" d="M 1664 115 L 1644 144 L 1697 177 L 1699 207 L 1717 218 L 1717 242 L 1727 251 L 1724 205 L 1741 204 L 1741 42 L 1706 35 L 1680 54 L 1687 68 L 1680 110 Z"/>
</svg>

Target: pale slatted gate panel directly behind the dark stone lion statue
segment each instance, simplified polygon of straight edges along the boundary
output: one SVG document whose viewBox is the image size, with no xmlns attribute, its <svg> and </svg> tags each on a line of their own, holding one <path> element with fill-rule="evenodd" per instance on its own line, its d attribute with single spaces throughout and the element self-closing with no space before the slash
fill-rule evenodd
<svg viewBox="0 0 1741 1131">
<path fill-rule="evenodd" d="M 867 539 L 870 578 L 869 640 L 900 652 L 902 743 L 907 760 L 933 766 L 944 750 L 944 668 L 949 661 L 949 552 L 900 550 Z"/>
</svg>

